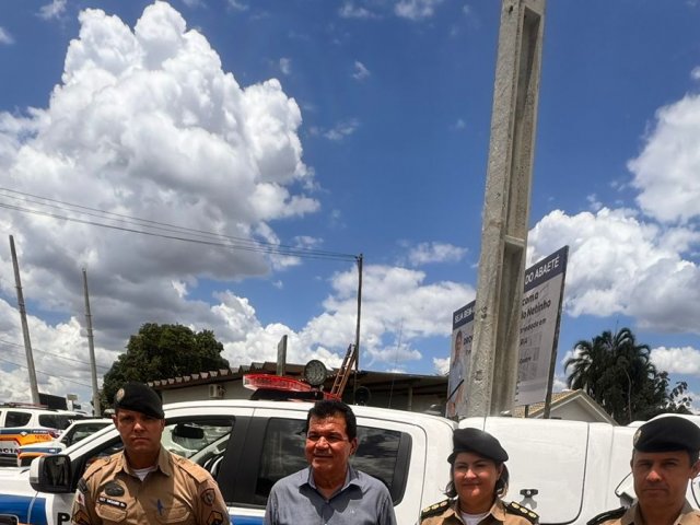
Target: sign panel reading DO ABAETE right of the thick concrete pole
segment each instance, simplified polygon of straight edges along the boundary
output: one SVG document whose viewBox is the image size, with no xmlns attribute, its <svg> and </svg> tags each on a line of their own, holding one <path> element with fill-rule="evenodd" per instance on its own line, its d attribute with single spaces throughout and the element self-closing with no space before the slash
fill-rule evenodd
<svg viewBox="0 0 700 525">
<path fill-rule="evenodd" d="M 525 270 L 515 405 L 545 400 L 557 351 L 569 246 Z"/>
</svg>

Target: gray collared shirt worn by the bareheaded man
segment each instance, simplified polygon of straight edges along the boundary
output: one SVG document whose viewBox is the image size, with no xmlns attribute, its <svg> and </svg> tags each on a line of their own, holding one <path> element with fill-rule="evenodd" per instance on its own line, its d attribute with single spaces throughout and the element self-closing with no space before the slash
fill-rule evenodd
<svg viewBox="0 0 700 525">
<path fill-rule="evenodd" d="M 386 486 L 352 467 L 329 500 L 317 490 L 311 467 L 280 479 L 265 510 L 266 525 L 396 525 Z"/>
</svg>

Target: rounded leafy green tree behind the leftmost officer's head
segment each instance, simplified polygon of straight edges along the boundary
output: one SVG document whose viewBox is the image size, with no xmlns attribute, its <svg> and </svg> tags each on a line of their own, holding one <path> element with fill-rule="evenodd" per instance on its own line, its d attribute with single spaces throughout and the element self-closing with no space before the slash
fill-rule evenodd
<svg viewBox="0 0 700 525">
<path fill-rule="evenodd" d="M 105 374 L 101 404 L 110 407 L 116 392 L 129 381 L 145 383 L 228 369 L 222 351 L 223 345 L 211 330 L 195 334 L 183 325 L 147 323 L 129 338 L 126 353 Z"/>
</svg>

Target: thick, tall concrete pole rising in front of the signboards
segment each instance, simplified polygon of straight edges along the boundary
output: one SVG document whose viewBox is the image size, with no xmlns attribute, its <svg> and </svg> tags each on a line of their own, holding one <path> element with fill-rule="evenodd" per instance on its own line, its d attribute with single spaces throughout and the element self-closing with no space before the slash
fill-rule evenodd
<svg viewBox="0 0 700 525">
<path fill-rule="evenodd" d="M 467 416 L 509 410 L 515 395 L 545 1 L 501 4 Z"/>
</svg>

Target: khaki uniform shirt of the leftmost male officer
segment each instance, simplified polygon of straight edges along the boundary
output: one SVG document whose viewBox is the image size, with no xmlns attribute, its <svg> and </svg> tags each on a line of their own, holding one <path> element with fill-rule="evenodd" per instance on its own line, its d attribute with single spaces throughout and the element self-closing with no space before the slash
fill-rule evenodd
<svg viewBox="0 0 700 525">
<path fill-rule="evenodd" d="M 161 447 L 158 464 L 141 481 L 124 452 L 97 459 L 78 483 L 77 525 L 225 525 L 226 504 L 217 482 L 199 465 Z"/>
</svg>

